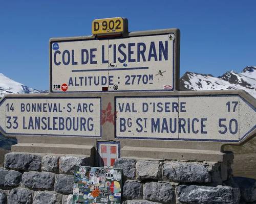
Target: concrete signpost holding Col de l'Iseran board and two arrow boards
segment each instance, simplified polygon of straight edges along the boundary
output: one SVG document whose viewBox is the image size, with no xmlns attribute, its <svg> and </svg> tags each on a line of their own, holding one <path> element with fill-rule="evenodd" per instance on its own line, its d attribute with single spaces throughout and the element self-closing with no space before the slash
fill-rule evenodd
<svg viewBox="0 0 256 204">
<path fill-rule="evenodd" d="M 118 157 L 223 161 L 224 145 L 255 136 L 256 101 L 239 90 L 178 91 L 179 44 L 178 29 L 53 38 L 50 93 L 4 97 L 0 131 L 18 139 L 16 151 L 102 146 L 102 166 Z"/>
</svg>

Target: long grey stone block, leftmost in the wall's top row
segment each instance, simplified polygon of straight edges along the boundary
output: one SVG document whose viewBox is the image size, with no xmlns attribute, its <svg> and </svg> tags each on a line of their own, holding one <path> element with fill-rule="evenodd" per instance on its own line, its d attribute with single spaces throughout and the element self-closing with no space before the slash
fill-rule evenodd
<svg viewBox="0 0 256 204">
<path fill-rule="evenodd" d="M 41 167 L 41 156 L 21 152 L 10 152 L 5 155 L 5 167 L 14 170 L 38 171 Z"/>
</svg>

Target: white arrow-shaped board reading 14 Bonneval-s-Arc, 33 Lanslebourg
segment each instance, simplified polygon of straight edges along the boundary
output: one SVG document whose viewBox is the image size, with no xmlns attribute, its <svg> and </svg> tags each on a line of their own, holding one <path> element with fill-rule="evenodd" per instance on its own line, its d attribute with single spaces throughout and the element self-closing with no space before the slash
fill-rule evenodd
<svg viewBox="0 0 256 204">
<path fill-rule="evenodd" d="M 99 97 L 6 97 L 0 115 L 5 135 L 101 137 Z"/>
</svg>

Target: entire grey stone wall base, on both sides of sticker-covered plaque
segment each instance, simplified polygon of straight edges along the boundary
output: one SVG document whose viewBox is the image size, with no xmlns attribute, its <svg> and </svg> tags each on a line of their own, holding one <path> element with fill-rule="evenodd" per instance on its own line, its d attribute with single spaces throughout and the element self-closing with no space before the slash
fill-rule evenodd
<svg viewBox="0 0 256 204">
<path fill-rule="evenodd" d="M 10 152 L 0 168 L 0 204 L 71 204 L 74 166 L 93 165 L 89 156 Z M 229 162 L 120 158 L 115 168 L 123 169 L 123 204 L 256 201 L 255 180 L 233 179 Z"/>
</svg>

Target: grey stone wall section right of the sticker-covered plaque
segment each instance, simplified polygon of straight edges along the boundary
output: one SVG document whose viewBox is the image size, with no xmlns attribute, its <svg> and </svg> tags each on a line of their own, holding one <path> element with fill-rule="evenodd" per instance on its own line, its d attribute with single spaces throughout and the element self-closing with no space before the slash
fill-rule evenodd
<svg viewBox="0 0 256 204">
<path fill-rule="evenodd" d="M 123 168 L 125 203 L 239 203 L 239 188 L 225 185 L 231 180 L 229 165 L 133 159 L 115 163 Z"/>
</svg>

